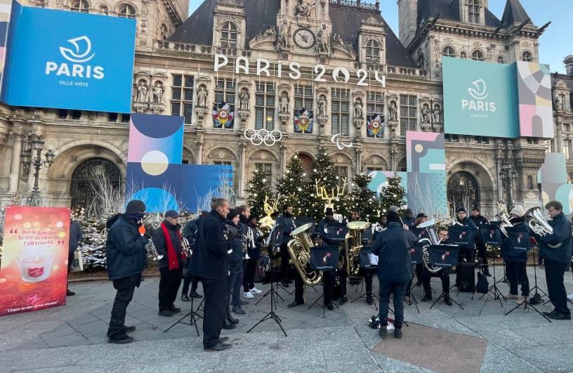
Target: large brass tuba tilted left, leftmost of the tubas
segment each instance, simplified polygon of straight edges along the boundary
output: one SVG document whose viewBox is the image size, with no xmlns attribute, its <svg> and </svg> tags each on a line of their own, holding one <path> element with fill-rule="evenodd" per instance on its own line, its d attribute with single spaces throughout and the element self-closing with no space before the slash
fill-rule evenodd
<svg viewBox="0 0 573 373">
<path fill-rule="evenodd" d="M 291 260 L 296 270 L 298 270 L 298 274 L 301 275 L 303 282 L 308 286 L 314 287 L 320 284 L 322 273 L 320 270 L 310 268 L 310 249 L 312 249 L 313 245 L 308 230 L 312 225 L 313 223 L 306 223 L 293 230 L 291 232 L 293 238 L 286 244 L 286 249 L 289 250 Z"/>
</svg>

